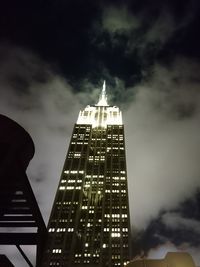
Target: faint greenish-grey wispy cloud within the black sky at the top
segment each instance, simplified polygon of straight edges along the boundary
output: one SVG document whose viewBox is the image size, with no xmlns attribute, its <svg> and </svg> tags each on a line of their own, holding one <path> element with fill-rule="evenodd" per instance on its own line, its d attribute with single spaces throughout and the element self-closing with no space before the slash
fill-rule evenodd
<svg viewBox="0 0 200 267">
<path fill-rule="evenodd" d="M 137 12 L 126 3 L 105 6 L 101 21 L 95 24 L 92 42 L 101 51 L 106 47 L 111 51 L 123 51 L 124 54 L 118 57 L 134 56 L 135 60 L 139 58 L 140 63 L 152 63 L 149 59 L 157 58 L 166 44 L 174 38 L 176 42 L 181 41 L 184 29 L 196 13 L 193 3 L 185 4 L 184 14 L 179 18 L 164 3 L 154 7 L 157 11 L 152 15 L 152 6 Z"/>
</svg>

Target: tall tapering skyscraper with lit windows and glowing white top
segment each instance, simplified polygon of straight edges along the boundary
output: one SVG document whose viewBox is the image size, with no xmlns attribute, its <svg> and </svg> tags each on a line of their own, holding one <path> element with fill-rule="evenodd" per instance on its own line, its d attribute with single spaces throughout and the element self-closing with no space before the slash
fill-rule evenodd
<svg viewBox="0 0 200 267">
<path fill-rule="evenodd" d="M 118 107 L 80 111 L 58 185 L 44 266 L 124 266 L 129 260 L 124 126 Z"/>
</svg>

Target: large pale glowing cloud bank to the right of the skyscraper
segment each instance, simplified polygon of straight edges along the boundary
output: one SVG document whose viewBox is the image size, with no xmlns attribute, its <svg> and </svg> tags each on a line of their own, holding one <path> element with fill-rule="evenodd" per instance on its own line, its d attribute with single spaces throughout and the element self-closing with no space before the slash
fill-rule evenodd
<svg viewBox="0 0 200 267">
<path fill-rule="evenodd" d="M 199 66 L 155 65 L 124 111 L 132 224 L 146 228 L 200 186 Z M 129 89 L 131 90 L 131 89 Z"/>
</svg>

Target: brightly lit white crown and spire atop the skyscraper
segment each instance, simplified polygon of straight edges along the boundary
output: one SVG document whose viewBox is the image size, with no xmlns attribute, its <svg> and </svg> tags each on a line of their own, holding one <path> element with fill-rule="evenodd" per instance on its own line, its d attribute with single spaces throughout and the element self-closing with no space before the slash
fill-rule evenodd
<svg viewBox="0 0 200 267">
<path fill-rule="evenodd" d="M 98 103 L 94 106 L 88 105 L 83 111 L 80 111 L 77 124 L 90 124 L 92 128 L 122 125 L 122 113 L 119 108 L 108 105 L 105 81 Z"/>
</svg>

